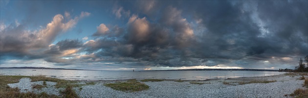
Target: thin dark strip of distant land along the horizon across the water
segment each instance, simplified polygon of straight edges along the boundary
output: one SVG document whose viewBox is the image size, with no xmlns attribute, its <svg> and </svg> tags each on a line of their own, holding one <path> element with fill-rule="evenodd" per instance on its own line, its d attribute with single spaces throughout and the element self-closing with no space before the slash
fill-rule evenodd
<svg viewBox="0 0 308 98">
<path fill-rule="evenodd" d="M 0 67 L 0 69 L 46 69 L 46 70 L 107 71 L 107 70 L 82 70 L 82 69 L 45 68 L 45 67 Z M 279 70 L 265 70 L 265 69 L 182 69 L 182 70 L 146 70 L 146 71 L 263 71 L 263 72 L 278 72 Z M 146 72 L 146 71 L 142 71 L 142 72 Z M 135 71 L 135 72 L 137 72 L 137 71 Z"/>
</svg>

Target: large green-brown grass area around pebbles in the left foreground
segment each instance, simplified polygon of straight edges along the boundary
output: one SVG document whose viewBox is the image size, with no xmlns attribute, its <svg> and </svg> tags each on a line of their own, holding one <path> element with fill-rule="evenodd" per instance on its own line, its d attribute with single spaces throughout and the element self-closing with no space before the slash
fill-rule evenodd
<svg viewBox="0 0 308 98">
<path fill-rule="evenodd" d="M 18 88 L 10 88 L 7 84 L 17 83 L 21 78 L 28 77 L 33 81 L 43 81 L 43 85 L 34 85 L 34 89 L 44 88 L 46 81 L 56 82 L 56 88 L 66 88 L 62 92 L 64 98 L 77 98 L 78 96 L 72 90 L 72 87 L 80 87 L 83 85 L 94 85 L 95 82 L 87 82 L 86 84 L 76 84 L 77 81 L 63 80 L 51 77 L 41 76 L 17 76 L 17 75 L 0 75 L 0 98 L 59 98 L 56 95 L 48 95 L 46 93 L 35 94 L 32 92 L 20 93 Z"/>
</svg>

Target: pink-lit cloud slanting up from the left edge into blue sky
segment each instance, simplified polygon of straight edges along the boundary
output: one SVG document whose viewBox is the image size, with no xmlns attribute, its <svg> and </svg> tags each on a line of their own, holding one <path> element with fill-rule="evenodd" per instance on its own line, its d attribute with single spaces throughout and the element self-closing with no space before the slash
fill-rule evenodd
<svg viewBox="0 0 308 98">
<path fill-rule="evenodd" d="M 69 16 L 69 14 L 66 13 L 66 16 Z M 58 14 L 53 17 L 51 23 L 48 23 L 46 27 L 39 30 L 27 30 L 26 24 L 18 26 L 9 25 L 1 30 L 1 55 L 5 55 L 5 53 L 28 56 L 36 55 L 41 49 L 48 48 L 48 45 L 50 45 L 59 34 L 74 27 L 79 19 L 79 17 L 75 17 L 63 23 L 65 21 L 64 17 Z"/>
</svg>

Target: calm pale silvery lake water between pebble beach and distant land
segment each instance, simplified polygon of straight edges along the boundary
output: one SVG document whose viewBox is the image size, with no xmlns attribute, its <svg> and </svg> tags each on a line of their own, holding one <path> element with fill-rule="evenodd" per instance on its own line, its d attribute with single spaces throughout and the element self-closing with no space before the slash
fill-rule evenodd
<svg viewBox="0 0 308 98">
<path fill-rule="evenodd" d="M 33 71 L 36 70 L 36 71 Z M 254 77 L 283 74 L 285 72 L 261 71 L 83 71 L 83 70 L 39 70 L 1 69 L 1 75 L 45 75 L 68 80 L 122 80 L 122 79 L 181 79 L 206 80 L 235 77 Z"/>
</svg>

